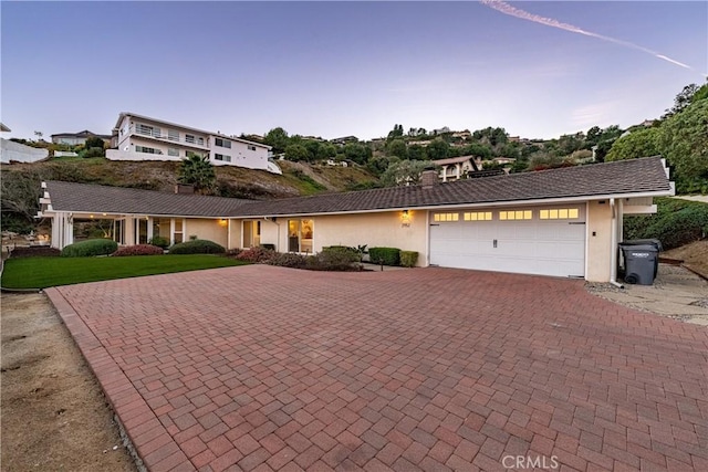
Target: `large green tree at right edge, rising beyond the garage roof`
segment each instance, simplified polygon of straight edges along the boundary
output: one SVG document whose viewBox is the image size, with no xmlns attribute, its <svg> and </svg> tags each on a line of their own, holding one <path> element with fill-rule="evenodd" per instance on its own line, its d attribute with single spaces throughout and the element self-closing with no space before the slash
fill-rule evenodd
<svg viewBox="0 0 708 472">
<path fill-rule="evenodd" d="M 708 191 L 708 98 L 668 118 L 659 128 L 659 149 L 674 168 L 676 191 Z"/>
</svg>

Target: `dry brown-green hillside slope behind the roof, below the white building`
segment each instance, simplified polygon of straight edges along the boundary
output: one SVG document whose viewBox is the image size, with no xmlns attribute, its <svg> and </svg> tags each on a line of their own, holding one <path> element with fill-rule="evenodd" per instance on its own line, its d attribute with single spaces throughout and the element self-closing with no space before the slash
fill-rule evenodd
<svg viewBox="0 0 708 472">
<path fill-rule="evenodd" d="M 360 166 L 340 167 L 279 161 L 282 176 L 240 167 L 216 167 L 216 195 L 270 199 L 368 186 L 377 178 Z M 115 187 L 173 191 L 179 162 L 112 161 L 97 158 L 52 158 L 34 164 L 0 166 L 2 172 L 2 229 L 25 232 L 33 229 L 42 180 L 65 180 Z"/>
</svg>

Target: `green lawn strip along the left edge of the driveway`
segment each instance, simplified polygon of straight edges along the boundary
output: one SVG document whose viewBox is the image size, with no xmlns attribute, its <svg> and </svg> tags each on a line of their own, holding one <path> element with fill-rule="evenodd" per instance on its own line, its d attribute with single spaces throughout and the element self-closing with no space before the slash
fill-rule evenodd
<svg viewBox="0 0 708 472">
<path fill-rule="evenodd" d="M 4 261 L 2 287 L 45 289 L 243 264 L 230 258 L 211 254 L 9 259 Z"/>
</svg>

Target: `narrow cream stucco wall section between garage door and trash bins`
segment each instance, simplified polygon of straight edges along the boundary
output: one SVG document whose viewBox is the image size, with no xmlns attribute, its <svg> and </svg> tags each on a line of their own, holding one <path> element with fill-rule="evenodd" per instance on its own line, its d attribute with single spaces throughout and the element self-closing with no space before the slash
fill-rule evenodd
<svg viewBox="0 0 708 472">
<path fill-rule="evenodd" d="M 585 280 L 610 282 L 613 262 L 610 200 L 587 203 L 587 256 Z"/>
</svg>

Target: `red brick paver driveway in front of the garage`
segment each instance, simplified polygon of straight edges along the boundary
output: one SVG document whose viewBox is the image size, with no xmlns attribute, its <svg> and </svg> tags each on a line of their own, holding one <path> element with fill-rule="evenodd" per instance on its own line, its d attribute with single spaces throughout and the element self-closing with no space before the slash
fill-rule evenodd
<svg viewBox="0 0 708 472">
<path fill-rule="evenodd" d="M 153 471 L 708 470 L 706 328 L 580 281 L 252 265 L 48 292 Z"/>
</svg>

